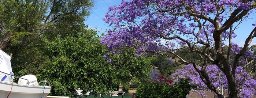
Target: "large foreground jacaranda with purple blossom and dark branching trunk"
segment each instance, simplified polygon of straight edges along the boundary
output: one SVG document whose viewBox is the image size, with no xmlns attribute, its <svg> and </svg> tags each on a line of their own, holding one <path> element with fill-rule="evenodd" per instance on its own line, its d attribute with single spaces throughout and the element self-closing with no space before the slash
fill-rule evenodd
<svg viewBox="0 0 256 98">
<path fill-rule="evenodd" d="M 237 98 L 240 88 L 235 79 L 241 73 L 235 74 L 235 69 L 246 68 L 239 61 L 256 37 L 255 29 L 251 33 L 243 32 L 248 38 L 234 56 L 231 43 L 236 37 L 235 29 L 255 14 L 255 7 L 255 0 L 123 0 L 118 6 L 109 7 L 104 20 L 113 29 L 108 30 L 101 43 L 109 50 L 136 47 L 138 55 L 156 53 L 192 64 L 209 90 L 223 98 L 206 72 L 207 65 L 215 64 L 227 78 L 229 97 Z M 227 51 L 223 41 L 229 43 Z M 188 54 L 196 53 L 200 61 L 184 60 L 175 54 L 181 50 L 179 45 L 185 45 L 182 48 L 188 49 Z M 199 50 L 196 45 L 204 49 Z M 254 62 L 255 59 L 247 60 Z"/>
</svg>

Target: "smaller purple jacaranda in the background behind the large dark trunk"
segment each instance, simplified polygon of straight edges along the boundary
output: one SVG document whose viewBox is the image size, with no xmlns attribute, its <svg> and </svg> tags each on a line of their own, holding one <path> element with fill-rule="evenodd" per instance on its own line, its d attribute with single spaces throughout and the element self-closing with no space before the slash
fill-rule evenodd
<svg viewBox="0 0 256 98">
<path fill-rule="evenodd" d="M 201 67 L 199 67 L 201 69 Z M 242 98 L 252 98 L 253 95 L 256 95 L 256 79 L 255 76 L 243 70 L 241 66 L 237 67 L 235 74 L 240 74 L 239 77 L 235 79 L 237 86 L 241 87 L 238 90 L 238 94 Z M 212 84 L 216 87 L 219 87 L 222 90 L 222 75 L 223 73 L 218 69 L 216 65 L 208 65 L 206 68 L 207 75 L 211 77 Z M 191 81 L 190 84 L 197 86 L 194 90 L 202 96 L 205 91 L 209 91 L 204 82 L 200 79 L 200 75 L 196 72 L 192 64 L 183 66 L 181 69 L 177 69 L 170 77 L 171 79 L 178 80 L 179 78 L 189 78 Z M 223 94 L 227 93 L 227 78 L 223 76 Z"/>
</svg>

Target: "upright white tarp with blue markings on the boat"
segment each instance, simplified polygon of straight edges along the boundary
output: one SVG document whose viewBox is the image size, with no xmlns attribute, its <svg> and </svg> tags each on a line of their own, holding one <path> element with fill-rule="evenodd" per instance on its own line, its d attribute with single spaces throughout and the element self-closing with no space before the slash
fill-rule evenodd
<svg viewBox="0 0 256 98">
<path fill-rule="evenodd" d="M 12 82 L 12 67 L 11 67 L 11 56 L 5 53 L 3 50 L 0 50 L 0 80 L 4 82 Z M 7 75 L 5 73 L 11 74 Z"/>
</svg>

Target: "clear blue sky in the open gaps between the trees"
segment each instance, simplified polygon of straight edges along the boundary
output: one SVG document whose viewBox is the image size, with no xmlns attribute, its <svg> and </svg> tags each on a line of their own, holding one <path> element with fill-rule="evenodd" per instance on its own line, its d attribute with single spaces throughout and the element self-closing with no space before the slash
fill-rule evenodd
<svg viewBox="0 0 256 98">
<path fill-rule="evenodd" d="M 106 29 L 111 29 L 107 23 L 105 23 L 102 19 L 105 18 L 105 14 L 108 11 L 108 6 L 119 5 L 122 0 L 95 0 L 94 1 L 94 8 L 91 11 L 90 16 L 85 21 L 85 24 L 88 24 L 91 28 L 97 28 L 97 31 L 101 33 L 105 33 Z M 129 0 L 127 0 L 129 1 Z M 254 29 L 255 26 L 252 26 L 252 23 L 255 23 L 256 16 L 253 15 L 250 20 L 243 21 L 240 24 L 240 28 L 235 30 L 237 34 L 237 38 L 233 38 L 233 42 L 238 44 L 239 46 L 244 45 L 245 39 L 248 37 L 249 33 Z M 227 42 L 226 42 L 227 43 Z M 256 38 L 253 39 L 251 45 L 256 44 Z M 250 46 L 251 46 L 250 45 Z"/>
</svg>

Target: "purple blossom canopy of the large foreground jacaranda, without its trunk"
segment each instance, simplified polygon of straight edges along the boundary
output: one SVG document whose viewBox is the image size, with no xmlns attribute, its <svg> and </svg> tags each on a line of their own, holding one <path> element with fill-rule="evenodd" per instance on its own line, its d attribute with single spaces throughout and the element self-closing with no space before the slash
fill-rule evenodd
<svg viewBox="0 0 256 98">
<path fill-rule="evenodd" d="M 183 35 L 188 37 L 189 42 L 197 42 L 203 44 L 204 42 L 212 42 L 212 32 L 214 32 L 214 25 L 212 23 L 205 23 L 204 27 L 200 27 L 197 22 L 190 22 L 191 17 L 188 14 L 168 15 L 161 14 L 160 12 L 150 12 L 146 4 L 152 3 L 156 6 L 156 9 L 160 11 L 171 11 L 172 13 L 184 12 L 184 7 L 179 7 L 181 4 L 191 6 L 190 9 L 194 9 L 198 14 L 210 15 L 219 11 L 221 6 L 226 5 L 225 10 L 229 10 L 228 7 L 236 6 L 247 10 L 253 1 L 241 3 L 240 0 L 220 0 L 216 3 L 212 1 L 204 0 L 123 0 L 119 6 L 109 7 L 104 21 L 109 23 L 110 26 L 114 26 L 115 32 L 108 30 L 108 34 L 101 39 L 101 44 L 106 44 L 111 50 L 114 47 L 141 47 L 143 50 L 155 51 L 162 49 L 170 49 L 171 44 L 165 44 L 163 47 L 154 47 L 153 45 L 161 45 L 156 40 L 164 37 L 170 37 L 173 35 Z M 170 4 L 170 5 L 169 5 Z M 218 5 L 215 5 L 218 4 Z M 177 6 L 177 7 L 175 7 Z M 219 7 L 217 7 L 219 6 Z M 174 7 L 174 8 L 172 8 Z M 176 9 L 177 8 L 177 9 Z M 227 16 L 226 13 L 219 15 L 220 24 L 222 20 Z M 133 25 L 136 24 L 136 25 Z M 118 27 L 116 27 L 116 25 Z M 200 27 L 200 32 L 195 32 Z M 207 32 L 205 32 L 207 31 Z M 191 35 L 192 34 L 192 35 Z M 223 39 L 228 39 L 229 31 L 223 31 Z M 232 33 L 233 37 L 236 37 L 235 33 Z M 194 40 L 192 40 L 194 39 Z M 162 40 L 161 40 L 162 41 Z M 121 44 L 122 43 L 122 44 Z M 146 44 L 138 44 L 146 43 Z M 167 42 L 166 42 L 167 43 Z M 181 42 L 180 42 L 181 43 Z M 183 44 L 183 43 L 182 43 Z M 210 43 L 211 44 L 211 43 Z M 213 45 L 213 44 L 211 44 Z M 225 45 L 225 44 L 223 44 Z M 169 47 L 169 48 L 165 48 Z M 140 49 L 140 48 L 139 48 Z"/>
</svg>

